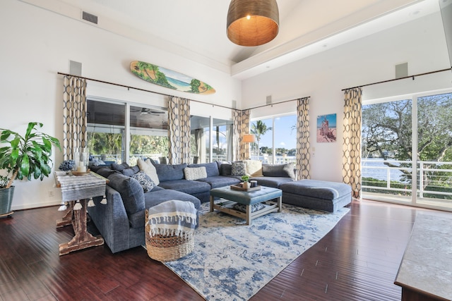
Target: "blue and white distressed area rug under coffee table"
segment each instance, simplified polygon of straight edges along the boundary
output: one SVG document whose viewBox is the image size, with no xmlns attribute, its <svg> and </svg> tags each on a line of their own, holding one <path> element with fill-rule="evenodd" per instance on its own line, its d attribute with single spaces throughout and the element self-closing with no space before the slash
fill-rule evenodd
<svg viewBox="0 0 452 301">
<path fill-rule="evenodd" d="M 165 262 L 206 300 L 248 300 L 331 231 L 350 209 L 335 214 L 283 204 L 283 211 L 243 219 L 201 205 L 194 252 Z"/>
</svg>

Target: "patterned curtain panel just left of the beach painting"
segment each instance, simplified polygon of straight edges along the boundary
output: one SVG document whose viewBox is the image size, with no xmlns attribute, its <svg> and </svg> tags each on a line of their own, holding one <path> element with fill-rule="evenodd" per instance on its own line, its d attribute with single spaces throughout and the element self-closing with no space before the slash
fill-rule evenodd
<svg viewBox="0 0 452 301">
<path fill-rule="evenodd" d="M 297 99 L 297 171 L 298 180 L 309 179 L 309 97 Z"/>
</svg>

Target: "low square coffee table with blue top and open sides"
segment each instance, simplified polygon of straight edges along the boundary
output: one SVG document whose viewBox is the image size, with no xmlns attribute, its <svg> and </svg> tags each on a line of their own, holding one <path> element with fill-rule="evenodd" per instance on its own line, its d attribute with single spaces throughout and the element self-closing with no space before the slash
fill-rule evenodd
<svg viewBox="0 0 452 301">
<path fill-rule="evenodd" d="M 282 209 L 283 195 L 282 190 L 278 188 L 270 188 L 261 186 L 260 190 L 239 191 L 232 190 L 230 186 L 222 188 L 213 188 L 210 190 L 210 212 L 218 210 L 232 216 L 237 216 L 246 220 L 246 225 L 251 225 L 251 221 L 259 216 L 269 214 L 270 212 L 280 212 Z M 215 204 L 215 197 L 225 199 Z M 263 209 L 251 212 L 251 205 L 258 203 L 266 203 Z M 243 204 L 246 206 L 246 212 L 234 209 L 234 204 Z"/>
</svg>

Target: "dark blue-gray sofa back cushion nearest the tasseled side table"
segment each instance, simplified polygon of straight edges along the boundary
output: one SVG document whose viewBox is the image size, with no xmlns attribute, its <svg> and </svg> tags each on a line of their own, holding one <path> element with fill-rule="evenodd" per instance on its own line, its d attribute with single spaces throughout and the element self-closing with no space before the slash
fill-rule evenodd
<svg viewBox="0 0 452 301">
<path fill-rule="evenodd" d="M 121 173 L 112 173 L 108 180 L 108 185 L 121 195 L 128 216 L 145 209 L 144 192 L 138 180 Z"/>
</svg>

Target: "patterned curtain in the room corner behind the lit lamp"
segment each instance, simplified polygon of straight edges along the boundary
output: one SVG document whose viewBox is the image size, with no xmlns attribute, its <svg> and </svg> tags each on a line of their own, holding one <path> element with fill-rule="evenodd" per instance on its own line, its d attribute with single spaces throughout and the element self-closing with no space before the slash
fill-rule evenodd
<svg viewBox="0 0 452 301">
<path fill-rule="evenodd" d="M 249 133 L 250 110 L 234 110 L 234 160 L 249 159 L 249 143 L 242 142 L 243 135 Z"/>
</svg>

